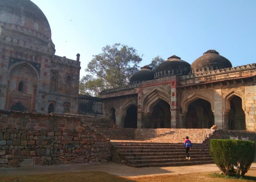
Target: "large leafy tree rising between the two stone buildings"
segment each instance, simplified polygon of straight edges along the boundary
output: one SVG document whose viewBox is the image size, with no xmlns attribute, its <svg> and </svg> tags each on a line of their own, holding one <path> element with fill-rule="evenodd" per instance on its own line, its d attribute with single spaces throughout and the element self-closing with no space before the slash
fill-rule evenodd
<svg viewBox="0 0 256 182">
<path fill-rule="evenodd" d="M 91 96 L 99 96 L 104 89 L 127 85 L 142 61 L 136 49 L 120 43 L 107 45 L 102 53 L 92 57 L 85 69 L 88 74 L 80 81 L 80 93 Z"/>
</svg>

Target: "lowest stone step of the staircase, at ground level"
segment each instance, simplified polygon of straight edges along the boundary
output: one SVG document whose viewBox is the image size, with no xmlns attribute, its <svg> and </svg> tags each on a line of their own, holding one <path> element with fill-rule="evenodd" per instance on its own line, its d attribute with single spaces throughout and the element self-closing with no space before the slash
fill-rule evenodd
<svg viewBox="0 0 256 182">
<path fill-rule="evenodd" d="M 127 166 L 130 167 L 169 167 L 169 166 L 190 166 L 190 165 L 200 165 L 200 164 L 212 164 L 213 161 L 195 161 L 193 158 L 184 162 L 161 162 L 161 163 L 143 163 L 143 164 L 130 164 Z"/>
</svg>

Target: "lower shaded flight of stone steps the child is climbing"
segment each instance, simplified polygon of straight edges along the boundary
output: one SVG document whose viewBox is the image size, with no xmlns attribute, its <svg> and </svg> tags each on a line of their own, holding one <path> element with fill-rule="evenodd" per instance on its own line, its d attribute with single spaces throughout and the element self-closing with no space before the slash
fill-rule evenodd
<svg viewBox="0 0 256 182">
<path fill-rule="evenodd" d="M 130 167 L 187 166 L 213 163 L 209 148 L 193 144 L 191 160 L 186 159 L 183 143 L 111 142 L 112 161 Z"/>
</svg>

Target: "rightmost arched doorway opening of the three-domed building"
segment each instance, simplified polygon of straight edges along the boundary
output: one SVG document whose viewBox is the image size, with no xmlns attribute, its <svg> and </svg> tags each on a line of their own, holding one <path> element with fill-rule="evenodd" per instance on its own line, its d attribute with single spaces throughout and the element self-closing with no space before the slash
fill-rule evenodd
<svg viewBox="0 0 256 182">
<path fill-rule="evenodd" d="M 230 99 L 229 130 L 245 130 L 245 112 L 242 109 L 242 99 L 233 96 Z"/>
</svg>

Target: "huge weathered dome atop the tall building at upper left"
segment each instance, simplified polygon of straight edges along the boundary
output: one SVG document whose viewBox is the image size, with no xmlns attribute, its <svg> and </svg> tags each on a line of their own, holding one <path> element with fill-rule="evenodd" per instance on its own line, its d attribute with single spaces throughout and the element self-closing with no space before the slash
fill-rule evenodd
<svg viewBox="0 0 256 182">
<path fill-rule="evenodd" d="M 43 40 L 51 39 L 46 16 L 30 0 L 0 0 L 0 25 Z"/>
</svg>

